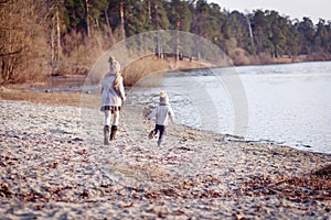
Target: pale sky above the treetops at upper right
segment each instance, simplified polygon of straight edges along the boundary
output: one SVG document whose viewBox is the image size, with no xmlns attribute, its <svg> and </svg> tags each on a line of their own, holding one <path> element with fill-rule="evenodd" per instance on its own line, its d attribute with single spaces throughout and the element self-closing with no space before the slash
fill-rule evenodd
<svg viewBox="0 0 331 220">
<path fill-rule="evenodd" d="M 217 3 L 221 10 L 237 10 L 239 12 L 253 12 L 261 9 L 275 10 L 280 15 L 287 15 L 290 20 L 298 19 L 302 21 L 308 16 L 316 24 L 319 19 L 331 21 L 331 1 L 330 0 L 207 0 L 209 3 Z"/>
</svg>

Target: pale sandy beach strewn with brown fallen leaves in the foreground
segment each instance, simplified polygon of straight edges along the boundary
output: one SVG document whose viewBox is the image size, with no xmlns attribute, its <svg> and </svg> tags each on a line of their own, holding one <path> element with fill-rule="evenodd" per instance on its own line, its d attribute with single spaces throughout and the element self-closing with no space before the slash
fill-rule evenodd
<svg viewBox="0 0 331 220">
<path fill-rule="evenodd" d="M 124 109 L 0 100 L 0 219 L 330 219 L 331 155 L 228 142 Z"/>
</svg>

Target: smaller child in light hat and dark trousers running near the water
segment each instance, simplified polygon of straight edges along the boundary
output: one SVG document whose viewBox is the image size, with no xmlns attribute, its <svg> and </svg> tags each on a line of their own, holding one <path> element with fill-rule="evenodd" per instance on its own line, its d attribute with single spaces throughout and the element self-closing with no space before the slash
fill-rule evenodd
<svg viewBox="0 0 331 220">
<path fill-rule="evenodd" d="M 153 117 L 156 118 L 156 128 L 149 133 L 149 139 L 153 139 L 157 133 L 160 132 L 158 140 L 158 146 L 160 146 L 169 118 L 171 119 L 172 123 L 174 123 L 174 114 L 172 108 L 170 107 L 169 98 L 166 91 L 160 92 L 160 103 L 149 116 L 147 116 L 147 119 L 150 120 Z"/>
</svg>

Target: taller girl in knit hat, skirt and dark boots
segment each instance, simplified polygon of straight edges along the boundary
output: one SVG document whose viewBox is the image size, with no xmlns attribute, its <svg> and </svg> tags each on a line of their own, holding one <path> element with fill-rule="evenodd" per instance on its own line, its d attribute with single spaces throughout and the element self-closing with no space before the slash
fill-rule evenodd
<svg viewBox="0 0 331 220">
<path fill-rule="evenodd" d="M 119 111 L 126 95 L 120 76 L 120 65 L 113 56 L 108 59 L 109 70 L 102 81 L 102 111 L 105 112 L 104 144 L 108 145 L 109 140 L 116 139 L 119 122 Z M 111 122 L 111 128 L 110 128 Z M 109 136 L 110 134 L 110 136 Z"/>
</svg>

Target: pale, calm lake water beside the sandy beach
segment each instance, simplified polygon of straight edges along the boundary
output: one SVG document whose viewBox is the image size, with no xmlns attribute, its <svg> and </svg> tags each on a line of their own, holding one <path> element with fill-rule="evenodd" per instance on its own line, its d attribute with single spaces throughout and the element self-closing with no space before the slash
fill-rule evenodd
<svg viewBox="0 0 331 220">
<path fill-rule="evenodd" d="M 152 108 L 166 90 L 177 123 L 331 153 L 331 62 L 157 75 L 129 90 L 129 107 Z"/>
</svg>

